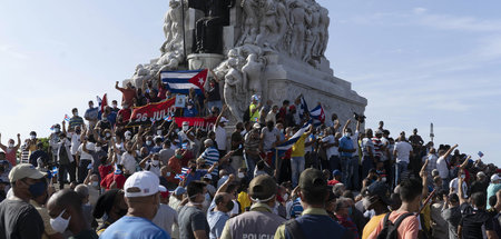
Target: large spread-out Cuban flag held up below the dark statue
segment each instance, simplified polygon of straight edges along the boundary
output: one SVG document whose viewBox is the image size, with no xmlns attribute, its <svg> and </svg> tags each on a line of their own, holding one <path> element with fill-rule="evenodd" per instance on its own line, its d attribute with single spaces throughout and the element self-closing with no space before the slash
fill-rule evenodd
<svg viewBox="0 0 501 239">
<path fill-rule="evenodd" d="M 208 70 L 186 70 L 186 71 L 161 71 L 161 82 L 166 89 L 173 93 L 188 94 L 189 89 L 194 88 L 197 94 L 204 92 L 205 81 Z"/>
</svg>

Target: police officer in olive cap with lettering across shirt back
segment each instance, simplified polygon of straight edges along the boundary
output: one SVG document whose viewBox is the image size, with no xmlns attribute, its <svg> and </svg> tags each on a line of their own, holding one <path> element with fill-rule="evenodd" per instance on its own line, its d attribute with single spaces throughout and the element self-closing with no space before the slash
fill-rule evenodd
<svg viewBox="0 0 501 239">
<path fill-rule="evenodd" d="M 273 213 L 277 186 L 268 175 L 261 175 L 250 181 L 248 193 L 253 200 L 250 211 L 229 219 L 223 229 L 222 239 L 273 238 L 285 219 Z"/>
</svg>

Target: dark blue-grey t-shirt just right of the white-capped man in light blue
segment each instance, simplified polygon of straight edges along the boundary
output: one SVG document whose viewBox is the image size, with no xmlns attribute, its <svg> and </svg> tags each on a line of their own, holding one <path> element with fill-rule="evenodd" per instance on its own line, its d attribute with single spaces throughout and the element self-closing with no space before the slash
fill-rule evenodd
<svg viewBox="0 0 501 239">
<path fill-rule="evenodd" d="M 179 210 L 179 238 L 194 239 L 194 231 L 205 230 L 207 237 L 210 232 L 210 227 L 205 218 L 205 213 L 191 206 L 185 206 Z"/>
</svg>

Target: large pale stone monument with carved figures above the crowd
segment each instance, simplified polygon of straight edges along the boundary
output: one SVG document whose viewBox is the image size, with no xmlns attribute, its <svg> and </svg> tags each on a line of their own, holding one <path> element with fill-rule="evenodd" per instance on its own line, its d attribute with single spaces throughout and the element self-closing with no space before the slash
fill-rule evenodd
<svg viewBox="0 0 501 239">
<path fill-rule="evenodd" d="M 208 68 L 222 96 L 242 120 L 250 96 L 282 104 L 303 94 L 311 108 L 341 120 L 363 113 L 367 100 L 334 77 L 325 58 L 328 10 L 315 0 L 170 0 L 161 56 L 139 64 L 131 81 L 164 70 Z"/>
</svg>

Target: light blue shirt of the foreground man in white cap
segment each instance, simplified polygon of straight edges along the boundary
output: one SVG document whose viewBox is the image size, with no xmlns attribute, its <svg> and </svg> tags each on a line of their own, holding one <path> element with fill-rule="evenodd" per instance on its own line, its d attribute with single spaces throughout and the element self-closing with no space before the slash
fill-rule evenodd
<svg viewBox="0 0 501 239">
<path fill-rule="evenodd" d="M 124 216 L 110 225 L 100 239 L 170 239 L 164 229 L 146 218 Z"/>
</svg>

